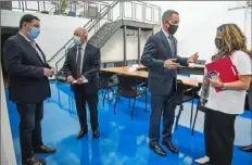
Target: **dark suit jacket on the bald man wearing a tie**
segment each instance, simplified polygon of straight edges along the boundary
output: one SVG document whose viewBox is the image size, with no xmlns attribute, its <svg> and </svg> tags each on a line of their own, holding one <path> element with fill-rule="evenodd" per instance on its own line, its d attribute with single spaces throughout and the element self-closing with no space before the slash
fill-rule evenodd
<svg viewBox="0 0 252 165">
<path fill-rule="evenodd" d="M 99 71 L 101 63 L 101 53 L 100 49 L 87 43 L 85 54 L 83 56 L 83 71 L 81 75 L 88 79 L 88 82 L 85 82 L 85 91 L 87 93 L 94 93 L 99 89 Z M 77 79 L 77 46 L 74 46 L 68 49 L 65 63 L 63 65 L 63 73 L 66 77 L 73 76 L 74 79 Z M 72 85 L 73 90 L 77 85 Z"/>
</svg>

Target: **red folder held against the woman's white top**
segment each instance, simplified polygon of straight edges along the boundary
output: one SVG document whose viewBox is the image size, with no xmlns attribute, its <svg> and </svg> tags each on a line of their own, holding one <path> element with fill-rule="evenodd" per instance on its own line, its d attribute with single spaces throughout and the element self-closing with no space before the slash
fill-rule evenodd
<svg viewBox="0 0 252 165">
<path fill-rule="evenodd" d="M 230 55 L 226 55 L 219 60 L 205 65 L 207 73 L 216 72 L 222 82 L 231 82 L 238 80 L 238 71 L 232 64 Z M 220 88 L 215 88 L 216 92 L 222 91 Z"/>
</svg>

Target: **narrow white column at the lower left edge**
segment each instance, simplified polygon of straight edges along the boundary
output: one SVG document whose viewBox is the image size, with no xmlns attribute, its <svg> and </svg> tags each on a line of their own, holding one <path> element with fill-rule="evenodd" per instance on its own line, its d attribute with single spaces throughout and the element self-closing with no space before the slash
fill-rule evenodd
<svg viewBox="0 0 252 165">
<path fill-rule="evenodd" d="M 1 66 L 0 66 L 1 67 Z M 16 165 L 16 157 L 11 135 L 9 114 L 7 109 L 5 92 L 3 87 L 2 71 L 0 71 L 1 87 L 1 165 Z"/>
</svg>

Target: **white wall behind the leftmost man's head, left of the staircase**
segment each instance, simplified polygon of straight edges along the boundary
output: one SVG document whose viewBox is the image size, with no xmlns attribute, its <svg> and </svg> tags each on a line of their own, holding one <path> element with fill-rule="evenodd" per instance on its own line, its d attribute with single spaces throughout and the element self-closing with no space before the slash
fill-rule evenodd
<svg viewBox="0 0 252 165">
<path fill-rule="evenodd" d="M 30 12 L 29 12 L 30 13 Z M 1 10 L 1 26 L 18 27 L 20 20 L 25 13 Z M 84 26 L 89 20 L 71 16 L 33 13 L 41 24 L 41 34 L 36 39 L 46 53 L 47 60 L 56 53 L 73 36 L 74 29 Z"/>
</svg>

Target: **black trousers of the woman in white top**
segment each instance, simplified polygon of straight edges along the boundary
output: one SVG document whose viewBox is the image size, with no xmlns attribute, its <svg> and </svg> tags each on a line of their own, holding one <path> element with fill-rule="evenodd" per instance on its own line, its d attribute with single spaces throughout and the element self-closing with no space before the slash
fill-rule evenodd
<svg viewBox="0 0 252 165">
<path fill-rule="evenodd" d="M 231 165 L 236 116 L 205 109 L 205 153 L 212 165 Z"/>
</svg>

